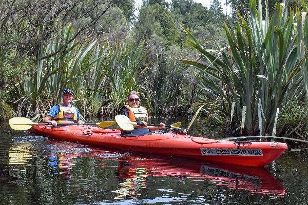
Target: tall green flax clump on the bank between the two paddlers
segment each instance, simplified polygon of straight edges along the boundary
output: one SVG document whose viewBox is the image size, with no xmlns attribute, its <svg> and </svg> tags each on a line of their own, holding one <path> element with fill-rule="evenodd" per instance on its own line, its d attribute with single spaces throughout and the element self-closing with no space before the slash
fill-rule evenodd
<svg viewBox="0 0 308 205">
<path fill-rule="evenodd" d="M 85 82 L 87 90 L 94 91 L 93 97 L 100 96 L 103 102 L 102 115 L 117 112 L 125 105 L 126 96 L 132 90 L 140 92 L 145 103 L 143 105 L 148 105 L 148 98 L 143 94 L 147 89 L 144 74 L 152 60 L 146 63 L 144 40 L 137 46 L 133 42 L 118 42 L 114 45 L 107 42 L 102 48 L 97 48 L 93 55 L 100 59 L 88 73 L 91 82 Z"/>
</svg>

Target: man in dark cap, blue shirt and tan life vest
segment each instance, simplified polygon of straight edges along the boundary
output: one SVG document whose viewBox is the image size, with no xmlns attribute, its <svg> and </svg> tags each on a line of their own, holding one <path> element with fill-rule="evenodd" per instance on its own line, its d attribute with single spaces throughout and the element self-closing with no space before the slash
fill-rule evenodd
<svg viewBox="0 0 308 205">
<path fill-rule="evenodd" d="M 53 106 L 43 122 L 51 123 L 56 127 L 57 123 L 74 123 L 83 125 L 84 122 L 80 119 L 79 111 L 77 108 L 70 105 L 73 99 L 74 92 L 71 89 L 65 89 L 62 94 L 63 103 Z"/>
</svg>

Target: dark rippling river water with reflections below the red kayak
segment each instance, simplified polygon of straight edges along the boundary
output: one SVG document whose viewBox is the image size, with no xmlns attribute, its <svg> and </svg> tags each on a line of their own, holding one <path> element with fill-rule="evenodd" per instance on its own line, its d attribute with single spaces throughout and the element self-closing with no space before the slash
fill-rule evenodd
<svg viewBox="0 0 308 205">
<path fill-rule="evenodd" d="M 215 127 L 190 132 L 221 135 Z M 95 148 L 7 124 L 0 137 L 0 204 L 308 203 L 307 150 L 248 168 Z"/>
</svg>

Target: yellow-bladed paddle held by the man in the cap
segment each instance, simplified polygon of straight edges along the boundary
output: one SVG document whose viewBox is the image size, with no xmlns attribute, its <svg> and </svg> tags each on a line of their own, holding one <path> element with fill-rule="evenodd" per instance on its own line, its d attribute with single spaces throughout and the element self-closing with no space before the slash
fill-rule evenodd
<svg viewBox="0 0 308 205">
<path fill-rule="evenodd" d="M 106 128 L 114 125 L 115 121 L 101 121 L 101 122 L 86 122 L 84 125 L 97 125 L 100 128 Z M 14 130 L 29 130 L 33 125 L 51 125 L 48 122 L 33 122 L 26 117 L 13 117 L 9 120 L 9 124 Z M 58 123 L 57 125 L 78 125 L 76 123 Z"/>
</svg>

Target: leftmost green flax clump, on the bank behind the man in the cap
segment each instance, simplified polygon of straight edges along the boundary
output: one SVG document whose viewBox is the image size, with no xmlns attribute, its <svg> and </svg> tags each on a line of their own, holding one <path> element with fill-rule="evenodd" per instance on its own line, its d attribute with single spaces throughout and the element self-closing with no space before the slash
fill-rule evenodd
<svg viewBox="0 0 308 205">
<path fill-rule="evenodd" d="M 69 42 L 74 32 L 74 29 L 68 25 L 60 33 L 60 38 L 54 39 L 56 43 L 42 45 L 35 57 L 43 59 L 36 61 L 33 77 L 14 85 L 15 97 L 18 99 L 17 115 L 30 116 L 33 120 L 41 119 L 50 106 L 60 103 L 63 89 L 80 88 L 83 73 L 93 63 L 90 62 L 84 66 L 81 62 L 95 42 L 91 42 L 88 38 L 83 44 L 76 40 Z M 44 58 L 66 43 L 68 43 L 66 49 Z"/>
</svg>

